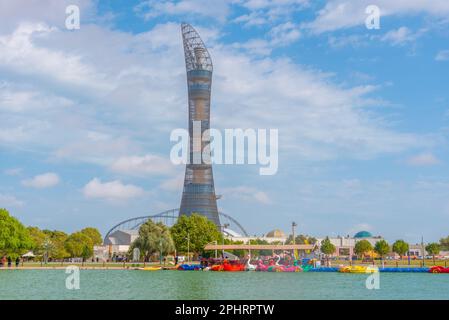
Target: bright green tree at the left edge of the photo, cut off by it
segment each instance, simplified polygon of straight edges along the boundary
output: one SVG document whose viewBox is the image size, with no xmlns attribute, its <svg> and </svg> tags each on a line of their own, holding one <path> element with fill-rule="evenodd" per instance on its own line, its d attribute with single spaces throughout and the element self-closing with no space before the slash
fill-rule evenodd
<svg viewBox="0 0 449 320">
<path fill-rule="evenodd" d="M 0 255 L 16 257 L 32 247 L 29 231 L 6 209 L 0 209 Z"/>
</svg>

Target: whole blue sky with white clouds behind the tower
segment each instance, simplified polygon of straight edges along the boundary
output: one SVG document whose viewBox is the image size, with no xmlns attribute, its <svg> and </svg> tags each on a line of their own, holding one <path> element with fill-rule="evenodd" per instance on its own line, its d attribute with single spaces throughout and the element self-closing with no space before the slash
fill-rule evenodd
<svg viewBox="0 0 449 320">
<path fill-rule="evenodd" d="M 81 28 L 64 26 L 77 4 Z M 381 10 L 365 27 L 366 6 Z M 277 128 L 279 170 L 214 167 L 252 234 L 449 234 L 449 3 L 0 1 L 0 207 L 67 232 L 179 206 L 180 23 L 214 62 L 212 127 Z"/>
</svg>

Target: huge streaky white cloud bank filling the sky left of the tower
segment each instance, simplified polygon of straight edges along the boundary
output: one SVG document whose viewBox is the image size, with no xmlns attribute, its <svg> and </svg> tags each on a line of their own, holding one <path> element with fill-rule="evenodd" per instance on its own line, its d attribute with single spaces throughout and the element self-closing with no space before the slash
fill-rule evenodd
<svg viewBox="0 0 449 320">
<path fill-rule="evenodd" d="M 105 165 L 142 152 L 139 141 L 158 141 L 183 119 L 183 104 L 173 95 L 174 87 L 185 87 L 177 24 L 136 36 L 92 25 L 73 33 L 22 24 L 0 36 L 0 48 L 8 79 L 0 81 L 0 109 L 7 111 L 0 117 L 3 146 Z"/>
</svg>

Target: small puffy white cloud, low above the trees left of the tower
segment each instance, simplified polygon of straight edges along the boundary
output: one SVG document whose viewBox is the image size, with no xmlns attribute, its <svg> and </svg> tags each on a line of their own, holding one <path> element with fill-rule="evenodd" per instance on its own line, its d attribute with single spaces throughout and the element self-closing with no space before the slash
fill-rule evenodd
<svg viewBox="0 0 449 320">
<path fill-rule="evenodd" d="M 83 194 L 90 199 L 128 200 L 143 196 L 145 191 L 132 184 L 123 184 L 119 180 L 103 183 L 94 178 L 84 186 Z"/>
</svg>

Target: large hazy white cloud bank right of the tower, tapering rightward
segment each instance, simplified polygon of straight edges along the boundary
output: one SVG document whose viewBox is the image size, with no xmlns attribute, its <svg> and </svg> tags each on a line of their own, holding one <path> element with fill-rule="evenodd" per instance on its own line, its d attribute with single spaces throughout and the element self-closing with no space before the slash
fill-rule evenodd
<svg viewBox="0 0 449 320">
<path fill-rule="evenodd" d="M 226 48 L 212 55 L 219 61 L 212 125 L 279 128 L 280 151 L 292 152 L 296 159 L 367 158 L 433 143 L 395 132 L 373 116 L 369 107 L 385 104 L 367 97 L 376 86 L 344 89 L 329 74 L 288 59 L 251 59 Z M 239 117 L 228 116 L 233 113 Z"/>
</svg>

